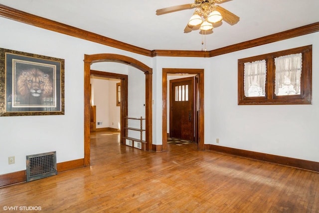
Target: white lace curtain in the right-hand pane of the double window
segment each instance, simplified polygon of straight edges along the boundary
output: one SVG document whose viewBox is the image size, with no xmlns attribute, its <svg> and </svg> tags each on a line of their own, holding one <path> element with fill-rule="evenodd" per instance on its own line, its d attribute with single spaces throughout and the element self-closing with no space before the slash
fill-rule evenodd
<svg viewBox="0 0 319 213">
<path fill-rule="evenodd" d="M 302 53 L 275 58 L 275 94 L 300 94 Z"/>
</svg>

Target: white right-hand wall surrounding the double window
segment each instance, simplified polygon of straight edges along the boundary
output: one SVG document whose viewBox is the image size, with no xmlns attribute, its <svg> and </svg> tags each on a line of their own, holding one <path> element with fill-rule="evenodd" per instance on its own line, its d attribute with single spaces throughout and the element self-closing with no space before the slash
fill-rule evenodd
<svg viewBox="0 0 319 213">
<path fill-rule="evenodd" d="M 319 32 L 210 60 L 205 143 L 319 162 Z M 237 59 L 313 44 L 312 105 L 237 105 Z M 207 94 L 207 93 L 206 93 Z M 206 114 L 207 109 L 211 111 Z"/>
</svg>

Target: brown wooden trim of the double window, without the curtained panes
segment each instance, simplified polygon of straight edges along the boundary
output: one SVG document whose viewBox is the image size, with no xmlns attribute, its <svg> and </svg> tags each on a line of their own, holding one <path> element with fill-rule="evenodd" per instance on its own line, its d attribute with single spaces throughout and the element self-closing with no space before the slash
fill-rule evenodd
<svg viewBox="0 0 319 213">
<path fill-rule="evenodd" d="M 296 53 L 302 53 L 301 94 L 276 96 L 275 58 Z M 263 97 L 246 97 L 244 93 L 244 63 L 263 59 L 266 60 L 267 65 L 266 94 Z M 238 59 L 238 105 L 272 104 L 312 104 L 312 45 Z"/>
</svg>

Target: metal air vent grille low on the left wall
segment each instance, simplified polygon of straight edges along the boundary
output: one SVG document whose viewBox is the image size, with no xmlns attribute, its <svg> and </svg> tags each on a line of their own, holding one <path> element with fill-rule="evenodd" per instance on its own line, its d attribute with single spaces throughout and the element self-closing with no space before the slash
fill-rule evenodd
<svg viewBox="0 0 319 213">
<path fill-rule="evenodd" d="M 57 174 L 56 152 L 26 156 L 26 181 L 34 181 Z"/>
</svg>

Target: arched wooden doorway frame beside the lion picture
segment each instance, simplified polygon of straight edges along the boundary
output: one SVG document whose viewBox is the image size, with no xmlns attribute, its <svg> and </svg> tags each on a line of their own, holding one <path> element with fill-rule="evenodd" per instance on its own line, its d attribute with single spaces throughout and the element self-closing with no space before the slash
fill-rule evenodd
<svg viewBox="0 0 319 213">
<path fill-rule="evenodd" d="M 145 73 L 145 124 L 146 124 L 146 150 L 152 150 L 152 74 L 153 69 L 134 58 L 112 54 L 100 53 L 84 55 L 84 166 L 90 165 L 90 75 L 91 64 L 96 62 L 118 62 L 133 66 Z"/>
</svg>

